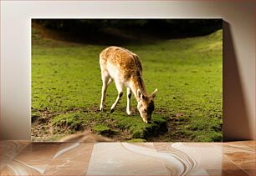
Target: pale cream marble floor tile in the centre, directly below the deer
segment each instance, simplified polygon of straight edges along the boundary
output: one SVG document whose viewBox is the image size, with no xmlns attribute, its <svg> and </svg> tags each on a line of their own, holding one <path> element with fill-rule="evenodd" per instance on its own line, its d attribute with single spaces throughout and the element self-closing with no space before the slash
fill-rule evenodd
<svg viewBox="0 0 256 176">
<path fill-rule="evenodd" d="M 96 143 L 88 175 L 168 175 L 153 143 Z"/>
</svg>

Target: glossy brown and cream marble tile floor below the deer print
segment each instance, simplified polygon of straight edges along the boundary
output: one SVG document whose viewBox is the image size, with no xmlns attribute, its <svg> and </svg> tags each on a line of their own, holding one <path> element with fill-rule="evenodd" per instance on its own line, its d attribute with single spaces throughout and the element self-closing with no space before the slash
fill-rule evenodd
<svg viewBox="0 0 256 176">
<path fill-rule="evenodd" d="M 0 142 L 1 175 L 256 175 L 255 141 Z"/>
</svg>

